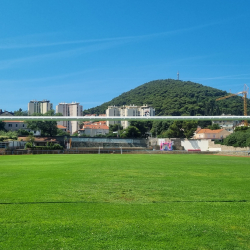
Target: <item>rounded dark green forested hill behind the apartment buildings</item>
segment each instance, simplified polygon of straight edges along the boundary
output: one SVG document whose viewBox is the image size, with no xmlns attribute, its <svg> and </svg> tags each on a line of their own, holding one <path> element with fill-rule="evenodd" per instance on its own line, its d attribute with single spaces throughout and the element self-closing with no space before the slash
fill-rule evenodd
<svg viewBox="0 0 250 250">
<path fill-rule="evenodd" d="M 243 115 L 242 97 L 215 101 L 228 94 L 190 81 L 156 80 L 140 85 L 100 106 L 84 110 L 83 114 L 104 114 L 111 105 L 148 104 L 155 108 L 156 115 Z"/>
</svg>

